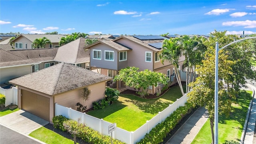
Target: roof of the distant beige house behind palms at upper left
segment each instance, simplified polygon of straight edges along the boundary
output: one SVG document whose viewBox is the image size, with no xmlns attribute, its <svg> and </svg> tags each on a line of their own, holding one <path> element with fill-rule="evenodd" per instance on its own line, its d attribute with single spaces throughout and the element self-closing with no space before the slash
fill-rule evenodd
<svg viewBox="0 0 256 144">
<path fill-rule="evenodd" d="M 62 37 L 66 37 L 64 35 L 61 34 L 20 34 L 19 36 L 17 36 L 14 40 L 20 38 L 21 36 L 24 36 L 25 38 L 27 38 L 28 40 L 30 40 L 31 42 L 34 42 L 34 40 L 36 38 L 43 38 L 46 37 L 47 39 L 49 39 L 52 43 L 58 43 L 60 42 L 60 39 Z"/>
</svg>

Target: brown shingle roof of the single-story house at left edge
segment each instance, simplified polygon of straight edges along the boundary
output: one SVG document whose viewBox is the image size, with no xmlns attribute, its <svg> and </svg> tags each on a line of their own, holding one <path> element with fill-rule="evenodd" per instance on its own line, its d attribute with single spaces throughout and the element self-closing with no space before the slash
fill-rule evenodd
<svg viewBox="0 0 256 144">
<path fill-rule="evenodd" d="M 22 58 L 16 54 L 13 54 L 11 51 L 0 49 L 0 68 L 9 68 L 14 66 L 25 66 L 39 64 L 40 62 L 35 62 L 33 60 L 28 60 Z"/>
</svg>

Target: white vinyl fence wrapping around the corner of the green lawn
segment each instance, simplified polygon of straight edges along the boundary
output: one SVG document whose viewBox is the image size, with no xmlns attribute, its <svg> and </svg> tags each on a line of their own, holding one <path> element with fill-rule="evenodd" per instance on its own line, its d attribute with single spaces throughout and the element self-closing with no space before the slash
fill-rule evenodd
<svg viewBox="0 0 256 144">
<path fill-rule="evenodd" d="M 135 144 L 136 142 L 139 142 L 142 138 L 144 138 L 146 133 L 152 130 L 152 128 L 164 121 L 177 108 L 184 106 L 187 99 L 187 94 L 185 94 L 180 99 L 177 99 L 176 102 L 170 104 L 165 110 L 158 112 L 154 118 L 146 121 L 146 123 L 138 128 L 135 132 L 128 132 L 116 127 L 116 130 L 114 130 L 112 133 L 112 137 L 127 144 Z M 100 132 L 100 134 L 111 136 L 111 133 L 108 134 L 108 126 L 110 126 L 112 123 L 106 122 L 103 119 L 95 118 L 86 113 L 78 112 L 76 110 L 72 110 L 72 108 L 67 108 L 55 103 L 55 116 L 58 115 L 65 116 L 66 118 L 73 120 L 78 120 L 78 118 L 80 118 L 81 122 L 86 124 L 86 126 L 93 128 L 94 130 Z"/>
</svg>

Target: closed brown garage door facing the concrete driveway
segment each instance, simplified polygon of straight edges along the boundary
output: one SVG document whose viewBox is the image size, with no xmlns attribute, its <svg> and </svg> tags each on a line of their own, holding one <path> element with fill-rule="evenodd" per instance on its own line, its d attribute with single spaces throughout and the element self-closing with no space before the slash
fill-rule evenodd
<svg viewBox="0 0 256 144">
<path fill-rule="evenodd" d="M 22 109 L 45 120 L 50 119 L 50 99 L 27 90 L 22 90 Z"/>
</svg>

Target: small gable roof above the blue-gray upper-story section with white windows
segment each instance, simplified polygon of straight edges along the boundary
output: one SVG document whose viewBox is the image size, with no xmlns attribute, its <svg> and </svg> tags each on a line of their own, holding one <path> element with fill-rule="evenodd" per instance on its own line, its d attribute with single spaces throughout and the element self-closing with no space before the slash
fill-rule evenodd
<svg viewBox="0 0 256 144">
<path fill-rule="evenodd" d="M 107 45 L 107 46 L 110 46 L 118 51 L 124 51 L 124 50 L 130 50 L 130 48 L 128 47 L 125 47 L 119 43 L 116 43 L 116 42 L 113 42 L 112 40 L 100 40 L 94 44 L 91 44 L 89 46 L 86 46 L 85 48 L 90 48 L 92 46 L 95 46 L 97 44 L 104 44 L 104 45 Z"/>
</svg>

